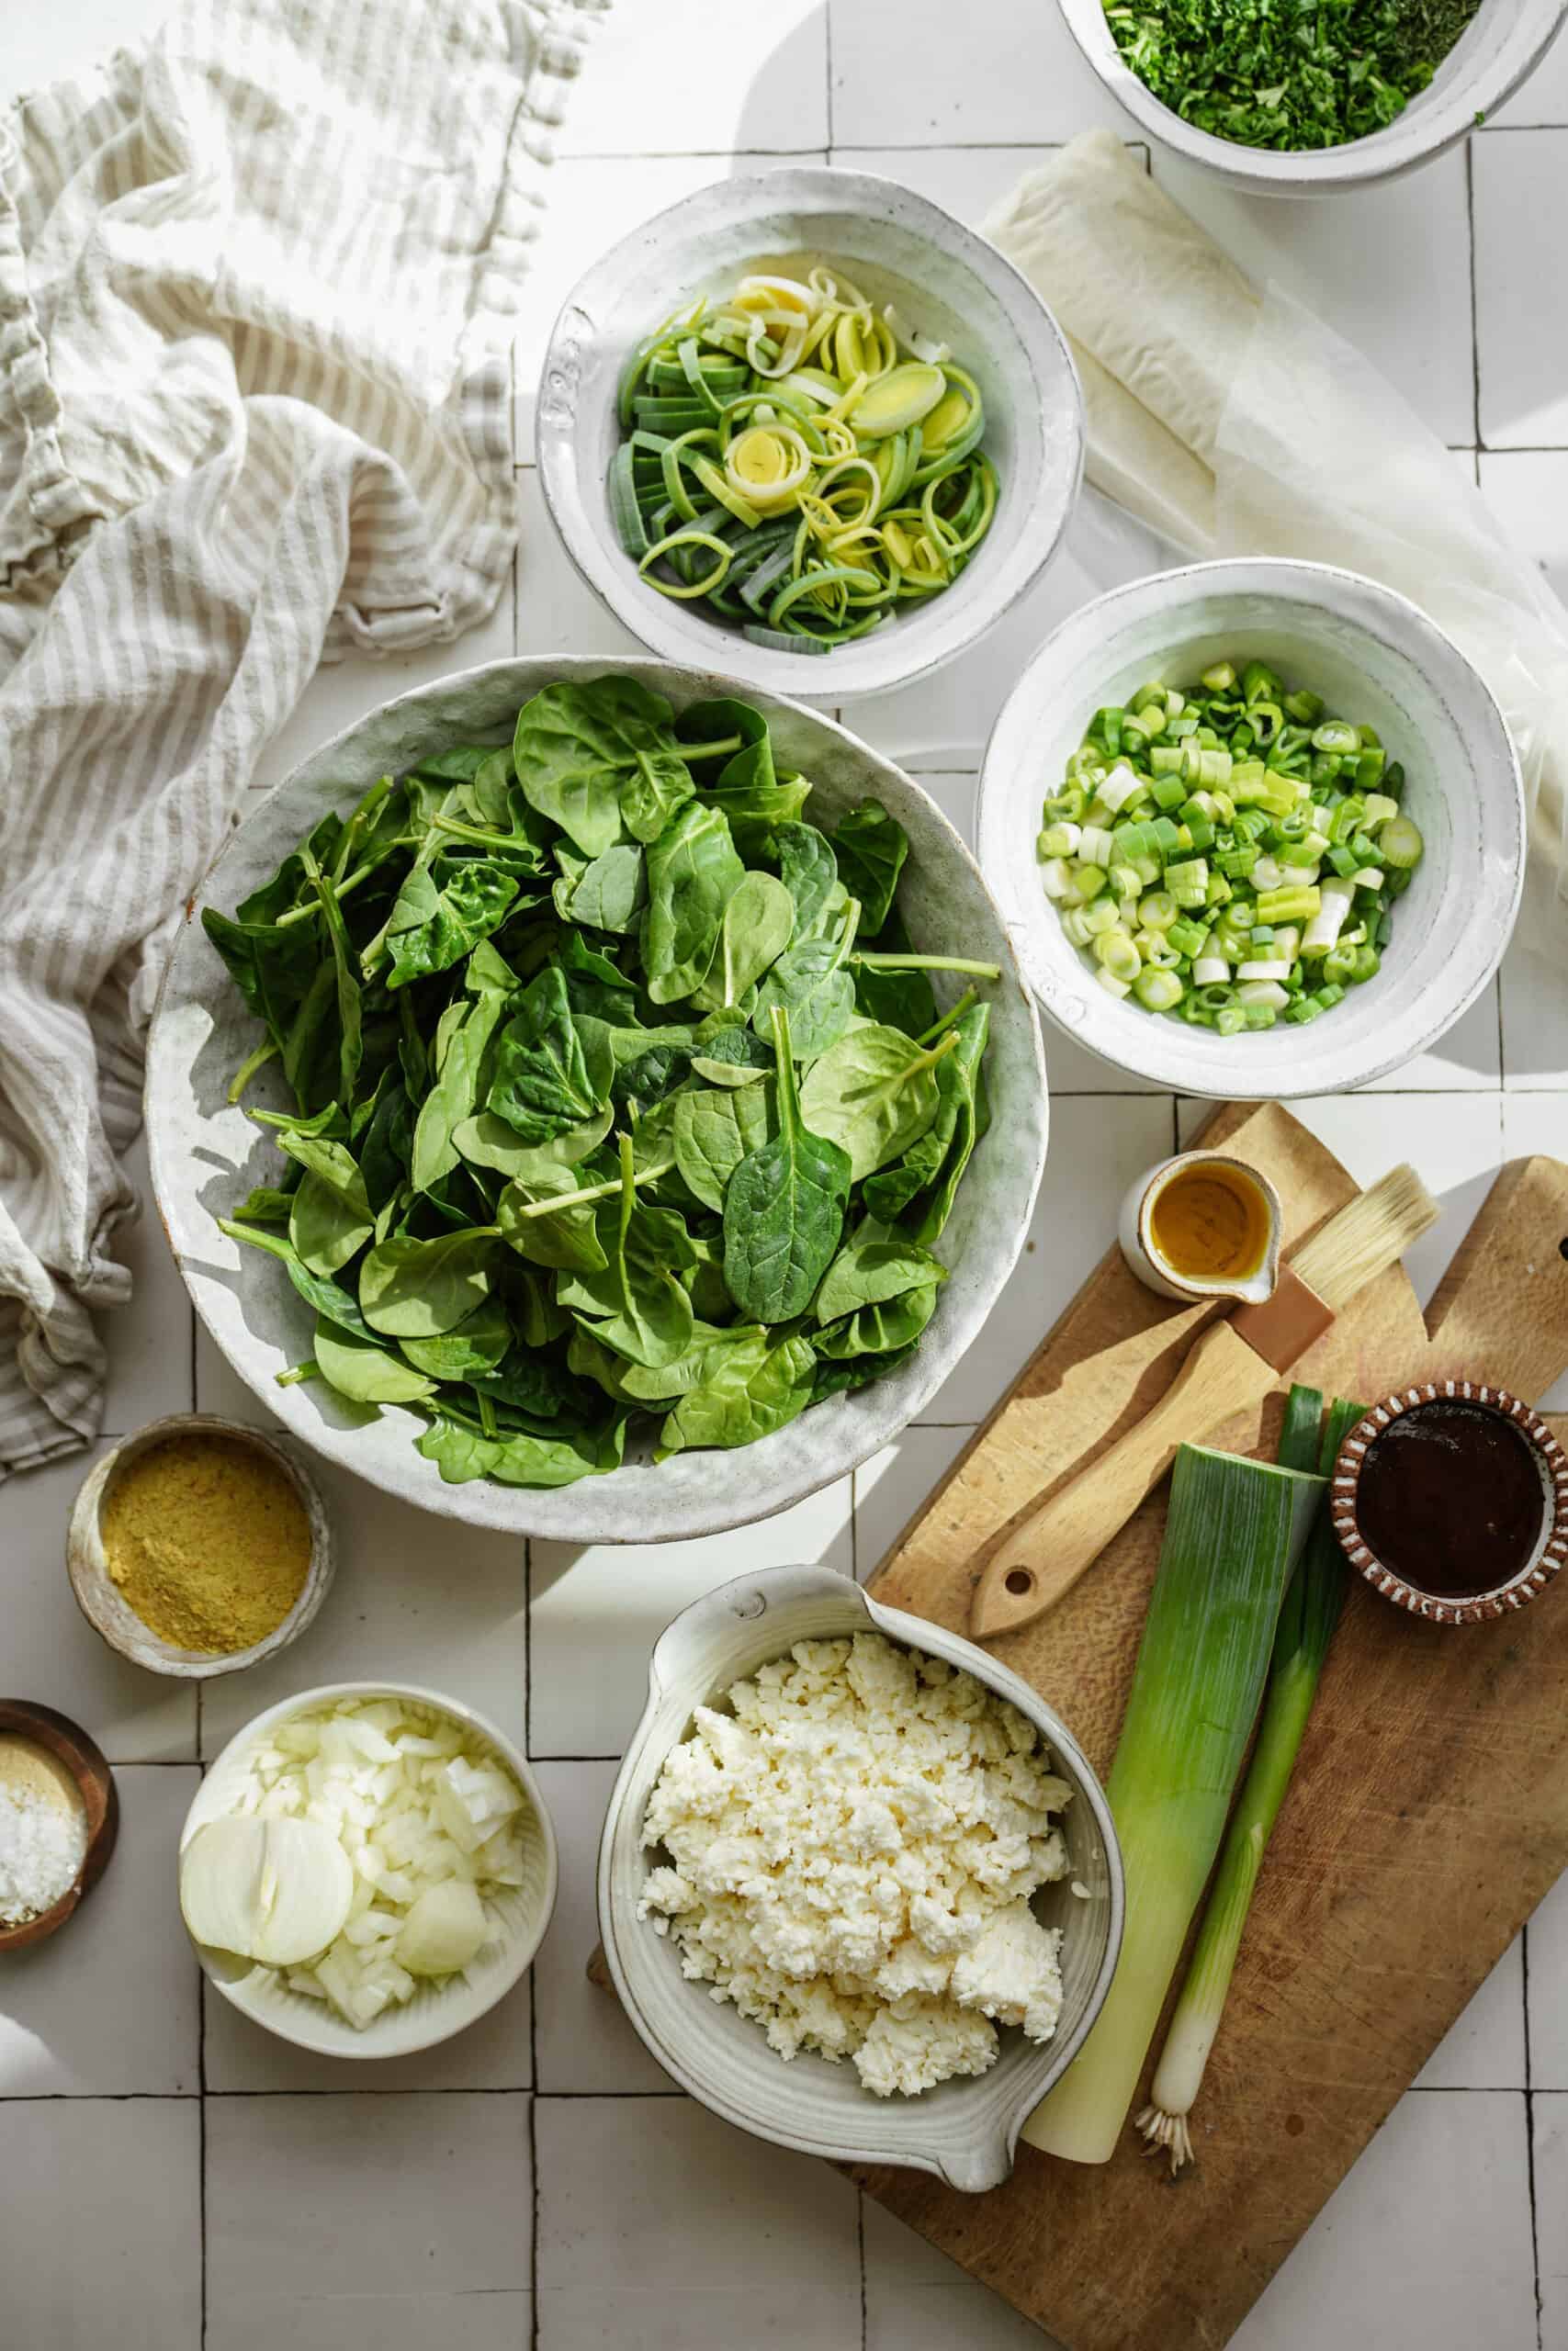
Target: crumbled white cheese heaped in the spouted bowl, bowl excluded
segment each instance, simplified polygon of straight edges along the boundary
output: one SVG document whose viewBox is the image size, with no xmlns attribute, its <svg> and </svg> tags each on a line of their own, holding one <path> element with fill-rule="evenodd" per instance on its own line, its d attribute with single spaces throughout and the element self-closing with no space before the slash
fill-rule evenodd
<svg viewBox="0 0 1568 2351">
<path fill-rule="evenodd" d="M 1067 1874 L 1067 1784 L 973 1674 L 882 1634 L 799 1641 L 698 1707 L 644 1817 L 639 1918 L 780 2057 L 849 2057 L 877 2097 L 1048 2041 L 1060 1933 L 1030 1895 Z M 992 2022 L 994 2020 L 994 2022 Z"/>
</svg>

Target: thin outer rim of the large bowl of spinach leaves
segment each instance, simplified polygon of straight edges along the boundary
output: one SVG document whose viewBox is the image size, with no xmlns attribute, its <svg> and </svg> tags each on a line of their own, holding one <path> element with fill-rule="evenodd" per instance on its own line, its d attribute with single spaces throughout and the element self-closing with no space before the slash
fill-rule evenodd
<svg viewBox="0 0 1568 2351">
<path fill-rule="evenodd" d="M 536 1523 L 536 1514 L 531 1514 L 529 1498 L 538 1500 L 543 1491 L 524 1488 L 524 1486 L 494 1486 L 489 1479 L 475 1481 L 473 1486 L 451 1486 L 451 1488 L 444 1488 L 444 1486 L 440 1486 L 440 1479 L 437 1479 L 435 1469 L 433 1469 L 433 1474 L 430 1474 L 428 1481 L 425 1479 L 416 1479 L 414 1474 L 407 1474 L 404 1479 L 390 1479 L 388 1481 L 388 1476 L 383 1476 L 378 1472 L 371 1472 L 364 1465 L 364 1460 L 360 1458 L 357 1448 L 346 1441 L 346 1436 L 350 1436 L 353 1432 L 331 1429 L 331 1427 L 324 1427 L 320 1434 L 313 1432 L 313 1429 L 303 1429 L 303 1427 L 289 1427 L 289 1432 L 287 1432 L 303 1448 L 308 1448 L 313 1453 L 320 1453 L 322 1460 L 331 1460 L 339 1467 L 353 1472 L 355 1476 L 364 1476 L 367 1483 L 376 1486 L 381 1493 L 393 1493 L 397 1500 L 409 1502 L 414 1509 L 428 1509 L 435 1516 L 454 1519 L 454 1521 L 465 1523 L 465 1526 L 482 1526 L 482 1528 L 489 1528 L 489 1531 L 496 1531 L 496 1533 L 505 1533 L 505 1535 L 534 1533 L 534 1535 L 541 1535 L 543 1540 L 559 1540 L 559 1542 L 576 1542 L 576 1545 L 590 1545 L 590 1542 L 616 1542 L 616 1545 L 621 1545 L 621 1542 L 686 1542 L 686 1540 L 696 1540 L 701 1535 L 724 1535 L 724 1533 L 733 1533 L 741 1526 L 755 1523 L 757 1516 L 766 1516 L 766 1514 L 773 1514 L 778 1509 L 792 1509 L 797 1502 L 804 1502 L 809 1495 L 820 1493 L 825 1486 L 832 1486 L 837 1479 L 846 1476 L 851 1469 L 863 1467 L 863 1462 L 867 1462 L 875 1453 L 879 1453 L 886 1444 L 891 1444 L 898 1434 L 903 1434 L 903 1429 L 910 1427 L 910 1422 L 924 1411 L 924 1406 L 931 1401 L 931 1396 L 950 1378 L 954 1364 L 969 1352 L 969 1347 L 973 1345 L 973 1340 L 980 1335 L 980 1328 L 985 1326 L 985 1319 L 990 1317 L 990 1312 L 994 1307 L 994 1300 L 1001 1295 L 1001 1288 L 1006 1286 L 1013 1267 L 1018 1265 L 1018 1258 L 1023 1255 L 1023 1246 L 1025 1246 L 1025 1241 L 1030 1237 L 1030 1220 L 1034 1215 L 1034 1206 L 1037 1206 L 1037 1199 L 1039 1199 L 1039 1185 L 1044 1180 L 1046 1150 L 1048 1150 L 1048 1140 L 1051 1140 L 1051 1089 L 1048 1089 L 1048 1079 L 1046 1079 L 1046 1053 L 1044 1053 L 1044 1039 L 1041 1039 L 1039 1006 L 1037 1006 L 1037 999 L 1034 999 L 1034 987 L 1030 985 L 1030 976 L 1025 971 L 1025 964 L 1023 964 L 1023 959 L 1020 959 L 1020 955 L 1016 950 L 1016 943 L 1013 943 L 1013 938 L 1009 933 L 1009 926 L 1004 922 L 1001 907 L 994 900 L 992 886 L 990 886 L 990 882 L 985 879 L 985 875 L 980 870 L 980 860 L 978 860 L 976 851 L 969 849 L 969 844 L 959 835 L 959 830 L 952 823 L 952 818 L 947 816 L 947 811 L 940 806 L 940 802 L 914 776 L 907 776 L 905 769 L 900 769 L 896 759 L 891 759 L 886 752 L 875 750 L 875 745 L 870 745 L 863 736 L 853 734 L 853 729 L 844 726 L 830 712 L 818 710 L 811 703 L 799 701 L 797 696 L 778 694 L 771 686 L 750 686 L 750 684 L 743 684 L 743 682 L 729 677 L 722 670 L 693 670 L 693 668 L 684 668 L 682 663 L 663 661 L 663 658 L 658 658 L 654 654 L 644 654 L 644 651 L 639 651 L 639 654 L 625 654 L 625 656 L 614 656 L 614 654 L 604 654 L 604 656 L 602 654 L 552 654 L 552 651 L 545 651 L 545 654 L 510 654 L 510 656 L 503 656 L 498 661 L 473 663 L 468 670 L 451 670 L 444 677 L 428 679 L 421 686 L 411 686 L 407 694 L 395 694 L 386 703 L 376 703 L 374 710 L 367 710 L 357 719 L 353 719 L 348 726 L 341 726 L 334 736 L 329 736 L 313 752 L 308 752 L 306 759 L 296 762 L 296 766 L 266 797 L 259 795 L 259 806 L 249 809 L 242 816 L 242 820 L 226 835 L 226 842 L 223 842 L 223 849 L 221 849 L 219 858 L 207 870 L 207 875 L 202 877 L 197 891 L 190 896 L 190 900 L 186 905 L 186 919 L 183 919 L 179 938 L 174 943 L 174 952 L 169 955 L 169 959 L 165 964 L 165 973 L 162 973 L 160 990 L 158 990 L 158 1002 L 155 1002 L 155 1009 L 153 1009 L 153 1023 L 150 1023 L 150 1030 L 148 1030 L 146 1081 L 143 1081 L 143 1119 L 146 1119 L 146 1136 L 148 1136 L 148 1166 L 150 1166 L 150 1183 L 153 1183 L 153 1199 L 158 1204 L 158 1211 L 160 1211 L 160 1223 L 165 1227 L 165 1239 L 169 1241 L 174 1262 L 179 1265 L 181 1279 L 183 1279 L 186 1291 L 188 1291 L 188 1295 L 190 1295 L 190 1300 L 195 1305 L 195 1312 L 200 1314 L 200 1319 L 207 1326 L 214 1345 L 219 1347 L 219 1352 L 223 1354 L 223 1359 L 233 1366 L 233 1371 L 244 1382 L 244 1387 L 252 1389 L 252 1394 L 256 1394 L 261 1399 L 261 1387 L 259 1387 L 259 1382 L 254 1378 L 254 1368 L 252 1368 L 252 1361 L 249 1361 L 247 1352 L 242 1347 L 240 1349 L 233 1347 L 230 1340 L 228 1340 L 228 1333 L 216 1324 L 214 1312 L 212 1312 L 212 1302 L 209 1302 L 209 1295 L 207 1295 L 207 1286 L 193 1281 L 193 1274 L 190 1274 L 190 1270 L 186 1265 L 186 1253 L 174 1241 L 174 1232 L 172 1232 L 172 1225 L 169 1225 L 169 1213 L 165 1211 L 165 1194 L 169 1194 L 174 1190 L 174 1161 L 176 1161 L 179 1152 L 174 1150 L 174 1143 L 172 1143 L 172 1138 L 165 1131 L 165 1119 L 162 1119 L 162 1112 L 158 1107 L 158 1096 L 160 1096 L 160 1091 L 165 1086 L 162 1058 L 165 1058 L 165 1051 L 169 1049 L 169 1011 L 172 1011 L 176 992 L 179 992 L 176 990 L 176 973 L 181 973 L 186 945 L 200 931 L 200 907 L 207 905 L 207 903 L 212 903 L 212 898 L 214 898 L 214 884 L 219 884 L 219 877 L 223 875 L 226 860 L 233 858 L 235 849 L 247 839 L 249 828 L 266 823 L 273 802 L 282 792 L 287 792 L 294 785 L 299 785 L 299 781 L 306 773 L 310 773 L 313 769 L 327 769 L 327 766 L 331 766 L 336 762 L 336 757 L 346 750 L 346 745 L 350 745 L 353 738 L 362 734 L 362 729 L 378 724 L 390 712 L 402 710 L 407 705 L 440 703 L 447 696 L 451 696 L 454 691 L 465 691 L 465 689 L 473 689 L 473 686 L 477 686 L 477 684 L 482 684 L 487 679 L 496 679 L 501 672 L 517 672 L 517 670 L 538 670 L 538 672 L 545 672 L 545 677 L 550 682 L 555 682 L 555 679 L 588 679 L 588 677 L 607 677 L 607 675 L 625 675 L 625 677 L 635 677 L 639 684 L 649 686 L 651 691 L 665 691 L 665 686 L 670 684 L 670 670 L 677 670 L 682 679 L 691 679 L 693 686 L 701 684 L 703 698 L 726 696 L 726 694 L 736 694 L 736 691 L 741 691 L 741 694 L 759 694 L 769 705 L 776 705 L 776 708 L 785 710 L 792 719 L 804 719 L 811 726 L 823 729 L 827 736 L 835 736 L 842 745 L 849 745 L 849 750 L 853 750 L 853 757 L 870 769 L 870 773 L 865 776 L 865 790 L 875 792 L 875 790 L 879 790 L 891 778 L 893 785 L 900 792 L 912 792 L 914 799 L 922 804 L 922 809 L 938 823 L 938 828 L 940 828 L 940 832 L 945 837 L 947 856 L 959 858 L 969 868 L 969 872 L 971 872 L 978 891 L 985 896 L 985 900 L 987 900 L 987 905 L 992 910 L 994 924 L 997 924 L 997 945 L 999 945 L 999 962 L 1001 962 L 1001 980 L 997 983 L 997 987 L 999 990 L 1016 987 L 1018 1002 L 1020 1002 L 1020 1006 L 1027 1013 L 1030 1065 L 1032 1065 L 1032 1074 L 1034 1074 L 1037 1105 L 1039 1105 L 1037 1121 L 1034 1121 L 1037 1128 L 1039 1128 L 1039 1147 L 1034 1152 L 1034 1166 L 1032 1166 L 1032 1176 L 1030 1176 L 1030 1183 L 1027 1183 L 1027 1201 L 1025 1201 L 1023 1213 L 1018 1218 L 1018 1230 L 1016 1230 L 1016 1237 L 1013 1237 L 1011 1255 L 1009 1255 L 1006 1265 L 999 1265 L 999 1270 L 997 1270 L 994 1295 L 992 1295 L 990 1305 L 985 1307 L 985 1312 L 976 1319 L 976 1328 L 971 1331 L 969 1340 L 964 1340 L 964 1345 L 957 1352 L 945 1354 L 940 1359 L 940 1368 L 938 1368 L 938 1354 L 933 1349 L 922 1349 L 926 1354 L 926 1368 L 922 1371 L 919 1380 L 910 1389 L 912 1401 L 907 1404 L 907 1408 L 900 1404 L 893 1413 L 886 1411 L 886 1396 L 896 1389 L 896 1380 L 893 1382 L 879 1382 L 875 1392 L 865 1389 L 863 1392 L 865 1396 L 875 1394 L 875 1396 L 879 1396 L 884 1401 L 879 1401 L 875 1408 L 867 1408 L 863 1413 L 863 1418 L 856 1418 L 856 1420 L 846 1422 L 846 1441 L 839 1448 L 839 1453 L 835 1455 L 835 1465 L 827 1467 L 827 1469 L 823 1469 L 820 1474 L 811 1472 L 804 1483 L 797 1483 L 788 1493 L 788 1498 L 776 1500 L 776 1502 L 766 1505 L 766 1509 L 750 1512 L 750 1514 L 748 1514 L 748 1509 L 743 1505 L 741 1505 L 741 1509 L 736 1514 L 736 1502 L 701 1502 L 701 1500 L 693 1498 L 686 1505 L 686 1509 L 682 1514 L 682 1521 L 677 1526 L 658 1526 L 654 1531 L 625 1531 L 623 1526 L 607 1523 L 602 1516 L 592 1514 L 592 1493 L 595 1493 L 595 1488 L 609 1486 L 614 1481 L 614 1476 L 621 1474 L 621 1472 L 609 1472 L 607 1476 L 583 1479 L 583 1481 L 578 1481 L 571 1488 L 559 1488 L 562 1493 L 576 1495 L 576 1502 L 571 1505 L 571 1523 L 569 1526 L 538 1526 Z M 522 694 L 522 686 L 517 691 Z M 538 691 L 538 686 L 534 686 L 529 691 Z M 679 691 L 684 694 L 686 686 L 682 684 Z M 919 1354 L 914 1357 L 914 1364 L 905 1366 L 905 1373 L 898 1375 L 898 1378 L 905 1378 L 917 1366 L 919 1366 Z M 835 1406 L 842 1406 L 846 1401 L 853 1401 L 853 1399 L 835 1396 L 827 1404 L 823 1404 L 820 1411 L 832 1411 Z M 762 1439 L 762 1444 L 769 1444 L 769 1441 L 771 1439 Z M 745 1451 L 745 1448 L 741 1448 L 741 1451 Z M 489 1509 L 482 1509 L 482 1507 L 458 1509 L 451 1502 L 454 1495 L 475 1495 L 475 1498 L 480 1498 L 480 1495 L 489 1495 L 489 1498 L 501 1495 L 501 1498 L 508 1498 L 508 1507 L 494 1505 Z M 545 1495 L 545 1500 L 552 1500 L 552 1495 Z"/>
</svg>

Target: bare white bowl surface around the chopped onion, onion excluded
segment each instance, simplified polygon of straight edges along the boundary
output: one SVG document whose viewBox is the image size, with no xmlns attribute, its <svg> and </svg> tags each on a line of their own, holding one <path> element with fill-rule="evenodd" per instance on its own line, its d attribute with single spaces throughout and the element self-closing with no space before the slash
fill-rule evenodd
<svg viewBox="0 0 1568 2351">
<path fill-rule="evenodd" d="M 244 1730 L 237 1730 L 207 1770 L 186 1813 L 179 1850 L 183 1855 L 209 1822 L 254 1808 L 259 1759 L 277 1754 L 280 1730 L 329 1714 L 346 1700 L 367 1707 L 390 1702 L 451 1726 L 461 1735 L 461 1749 L 470 1766 L 480 1773 L 487 1766 L 498 1768 L 522 1791 L 522 1810 L 510 1820 L 515 1850 L 508 1876 L 515 1883 L 487 1883 L 489 1933 L 477 1958 L 458 1975 L 423 1977 L 411 1996 L 388 2003 L 369 2024 L 355 2027 L 331 2001 L 296 1989 L 289 1975 L 299 1970 L 252 1965 L 233 1951 L 216 1951 L 195 1937 L 193 1947 L 207 1982 L 223 1994 L 230 2008 L 277 2034 L 280 2041 L 294 2041 L 324 2057 L 407 2057 L 414 2050 L 435 2048 L 437 2041 L 449 2041 L 505 1998 L 531 1965 L 555 1909 L 555 1829 L 527 1756 L 496 1723 L 440 1690 L 425 1690 L 409 1681 L 334 1681 L 317 1690 L 303 1690 L 299 1697 L 284 1697 Z M 331 1799 L 331 1791 L 322 1794 Z"/>
</svg>

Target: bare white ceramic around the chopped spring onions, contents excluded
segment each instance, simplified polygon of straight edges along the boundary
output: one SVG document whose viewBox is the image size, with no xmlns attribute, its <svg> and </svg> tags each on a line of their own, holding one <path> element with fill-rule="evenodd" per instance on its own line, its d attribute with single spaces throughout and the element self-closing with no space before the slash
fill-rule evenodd
<svg viewBox="0 0 1568 2351">
<path fill-rule="evenodd" d="M 1403 762 L 1403 806 L 1425 839 L 1375 978 L 1321 1020 L 1241 1037 L 1100 987 L 1041 889 L 1034 846 L 1041 802 L 1093 712 L 1150 677 L 1185 686 L 1222 656 L 1267 661 L 1375 726 Z M 1519 915 L 1523 785 L 1488 686 L 1415 604 L 1331 564 L 1241 557 L 1114 588 L 1046 637 L 985 748 L 978 842 L 1018 962 L 1067 1034 L 1173 1093 L 1288 1100 L 1399 1070 L 1481 994 Z"/>
</svg>

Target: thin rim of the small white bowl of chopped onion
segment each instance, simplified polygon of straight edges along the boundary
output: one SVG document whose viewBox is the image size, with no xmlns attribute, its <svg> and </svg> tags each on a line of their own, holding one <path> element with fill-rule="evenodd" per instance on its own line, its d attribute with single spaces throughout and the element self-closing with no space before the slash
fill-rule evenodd
<svg viewBox="0 0 1568 2351">
<path fill-rule="evenodd" d="M 550 1918 L 555 1916 L 555 1897 L 559 1893 L 559 1846 L 557 1846 L 557 1838 L 555 1838 L 555 1822 L 550 1820 L 550 1808 L 548 1808 L 548 1803 L 543 1799 L 543 1789 L 538 1787 L 538 1780 L 534 1775 L 534 1766 L 529 1763 L 527 1754 L 522 1751 L 522 1747 L 517 1747 L 517 1742 L 512 1737 L 508 1737 L 505 1730 L 501 1730 L 489 1719 L 489 1714 L 480 1714 L 480 1709 L 470 1707 L 465 1700 L 449 1697 L 444 1690 L 433 1690 L 428 1683 L 421 1683 L 421 1681 L 393 1681 L 390 1676 L 374 1676 L 369 1681 L 322 1681 L 322 1683 L 317 1683 L 310 1690 L 296 1690 L 292 1697 L 275 1700 L 275 1704 L 263 1707 L 261 1714 L 254 1714 L 249 1719 L 249 1723 L 242 1723 L 240 1730 L 235 1730 L 233 1737 L 228 1737 L 223 1742 L 223 1747 L 219 1749 L 219 1754 L 202 1770 L 202 1784 L 197 1787 L 195 1796 L 190 1799 L 190 1803 L 186 1808 L 186 1817 L 179 1824 L 179 1843 L 174 1848 L 174 1869 L 176 1869 L 176 1895 L 174 1895 L 174 1900 L 179 1904 L 179 1857 L 183 1855 L 183 1850 L 190 1843 L 190 1838 L 195 1836 L 195 1831 L 207 1824 L 207 1817 L 219 1817 L 216 1813 L 205 1810 L 205 1806 L 202 1806 L 205 1791 L 212 1789 L 219 1782 L 219 1775 L 230 1763 L 235 1763 L 247 1747 L 259 1744 L 259 1740 L 263 1737 L 263 1733 L 270 1730 L 275 1723 L 284 1723 L 284 1721 L 289 1721 L 296 1714 L 310 1714 L 310 1712 L 315 1712 L 320 1707 L 336 1704 L 336 1700 L 341 1700 L 341 1697 L 371 1697 L 371 1700 L 374 1697 L 400 1697 L 400 1700 L 407 1700 L 409 1704 L 430 1707 L 435 1714 L 449 1714 L 449 1716 L 454 1716 L 456 1721 L 461 1721 L 468 1728 L 477 1730 L 482 1740 L 489 1740 L 489 1744 L 496 1749 L 496 1754 L 501 1756 L 501 1761 L 505 1763 L 505 1768 L 517 1780 L 517 1787 L 527 1796 L 529 1806 L 534 1808 L 534 1817 L 538 1820 L 541 1843 L 543 1843 L 543 1853 L 545 1853 L 545 1883 L 543 1883 L 543 1895 L 541 1895 L 541 1902 L 538 1902 L 538 1918 L 536 1918 L 536 1923 L 529 1925 L 529 1933 L 524 1933 L 524 1935 L 517 1937 L 515 1951 L 508 1949 L 508 1954 L 505 1954 L 505 1968 L 501 1970 L 494 1989 L 487 1987 L 484 1996 L 477 1996 L 475 1987 L 468 1984 L 468 1982 L 463 1982 L 461 1994 L 451 2003 L 447 2003 L 444 1998 L 437 1998 L 433 2003 L 437 2022 L 428 2031 L 423 2031 L 423 2029 L 409 2031 L 407 2010 L 402 2010 L 402 2008 L 397 2008 L 397 2010 L 383 2010 L 383 2015 L 388 2017 L 388 2024 L 393 2027 L 393 2034 L 388 2034 L 388 2038 L 393 2041 L 390 2048 L 369 2048 L 369 2045 L 364 2045 L 364 2043 L 369 2043 L 376 2036 L 376 2027 L 381 2024 L 381 2017 L 376 2017 L 369 2024 L 369 2029 L 357 2036 L 357 2045 L 343 2045 L 336 2038 L 334 2041 L 324 2041 L 320 2036 L 313 2036 L 308 2031 L 308 2024 L 313 2020 L 306 2017 L 306 2015 L 301 2015 L 301 2020 L 299 2020 L 301 2029 L 292 2031 L 289 2029 L 292 2012 L 284 2015 L 284 2017 L 277 2017 L 270 2010 L 263 2012 L 263 2010 L 254 2008 L 249 2001 L 240 1998 L 240 1994 L 244 1991 L 244 1984 L 249 1982 L 249 1975 L 237 1975 L 237 1977 L 223 1977 L 223 1975 L 219 1975 L 219 1970 L 212 1965 L 209 1944 L 202 1944 L 202 1942 L 195 1940 L 195 1935 L 186 1925 L 186 1914 L 183 1911 L 181 1911 L 181 1921 L 179 1923 L 181 1923 L 181 1930 L 186 1935 L 186 1942 L 195 1951 L 195 1958 L 197 1958 L 197 1965 L 200 1965 L 202 1975 L 214 1987 L 214 1991 L 221 1991 L 230 2008 L 235 2008 L 252 2024 L 259 2024 L 263 2031 L 275 2034 L 277 2041 L 289 2041 L 289 2043 L 294 2043 L 294 2048 L 310 2050 L 317 2057 L 343 2057 L 343 2059 L 350 2059 L 350 2062 L 364 2062 L 364 2059 L 378 2059 L 378 2057 L 414 2057 L 418 2050 L 437 2048 L 442 2041 L 451 2041 L 456 2034 L 468 2031 L 470 2024 L 477 2024 L 480 2017 L 489 2015 L 489 2010 L 496 2008 L 522 1982 L 522 1977 L 529 1972 L 529 1968 L 534 1965 L 534 1961 L 538 1956 L 538 1947 L 543 1944 L 545 1933 L 550 1930 Z M 202 1820 L 195 1820 L 197 1813 L 202 1813 Z M 475 2005 L 475 2001 L 477 2001 L 477 2005 Z M 451 2008 L 461 2010 L 461 2015 L 456 2015 L 449 2024 L 440 2022 L 440 2010 L 444 2005 L 451 2005 Z M 336 2017 L 336 2010 L 331 2010 L 331 2015 L 334 2015 L 334 2022 L 341 2022 Z M 402 2020 L 402 2031 L 397 2031 L 397 2022 L 400 2020 Z"/>
</svg>

